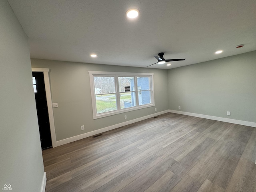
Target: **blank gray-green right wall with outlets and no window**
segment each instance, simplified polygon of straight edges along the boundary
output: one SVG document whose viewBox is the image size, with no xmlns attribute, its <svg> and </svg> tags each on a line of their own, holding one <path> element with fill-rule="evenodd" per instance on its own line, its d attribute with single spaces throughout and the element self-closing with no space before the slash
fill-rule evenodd
<svg viewBox="0 0 256 192">
<path fill-rule="evenodd" d="M 171 110 L 256 122 L 256 51 L 168 70 L 168 98 Z"/>
</svg>

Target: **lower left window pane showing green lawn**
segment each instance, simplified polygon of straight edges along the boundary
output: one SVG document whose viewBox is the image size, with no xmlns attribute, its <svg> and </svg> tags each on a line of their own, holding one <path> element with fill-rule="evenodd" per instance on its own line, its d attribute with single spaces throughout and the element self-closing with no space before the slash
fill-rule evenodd
<svg viewBox="0 0 256 192">
<path fill-rule="evenodd" d="M 117 110 L 116 94 L 96 95 L 97 114 Z"/>
</svg>

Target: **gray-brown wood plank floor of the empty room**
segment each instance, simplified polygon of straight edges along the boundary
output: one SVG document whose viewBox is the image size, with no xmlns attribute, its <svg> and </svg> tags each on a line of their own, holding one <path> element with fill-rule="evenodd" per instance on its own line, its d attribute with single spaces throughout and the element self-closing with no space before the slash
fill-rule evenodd
<svg viewBox="0 0 256 192">
<path fill-rule="evenodd" d="M 256 128 L 167 113 L 43 151 L 46 192 L 256 192 Z"/>
</svg>

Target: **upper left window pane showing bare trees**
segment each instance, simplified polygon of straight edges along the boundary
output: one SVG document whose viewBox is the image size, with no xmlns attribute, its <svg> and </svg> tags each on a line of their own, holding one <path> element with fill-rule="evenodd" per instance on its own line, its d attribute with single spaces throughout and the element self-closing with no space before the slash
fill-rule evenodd
<svg viewBox="0 0 256 192">
<path fill-rule="evenodd" d="M 95 94 L 115 93 L 114 77 L 97 77 L 94 76 Z"/>
</svg>

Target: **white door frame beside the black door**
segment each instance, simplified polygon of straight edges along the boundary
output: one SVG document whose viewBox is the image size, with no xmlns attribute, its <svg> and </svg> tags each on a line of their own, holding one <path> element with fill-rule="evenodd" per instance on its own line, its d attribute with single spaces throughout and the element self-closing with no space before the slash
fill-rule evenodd
<svg viewBox="0 0 256 192">
<path fill-rule="evenodd" d="M 49 68 L 32 68 L 32 72 L 43 72 L 44 73 L 44 86 L 49 114 L 49 122 L 50 122 L 50 131 L 52 137 L 52 147 L 56 147 L 56 134 L 55 134 L 55 126 L 54 126 L 54 118 L 53 118 L 53 109 L 52 109 L 52 94 L 50 89 L 50 80 L 49 80 Z"/>
</svg>

